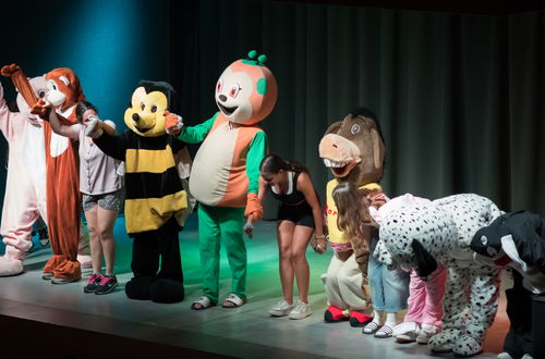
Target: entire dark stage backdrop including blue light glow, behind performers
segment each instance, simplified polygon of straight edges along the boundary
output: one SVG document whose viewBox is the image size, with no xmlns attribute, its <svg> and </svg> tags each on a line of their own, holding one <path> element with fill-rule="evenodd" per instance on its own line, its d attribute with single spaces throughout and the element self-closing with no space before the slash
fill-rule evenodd
<svg viewBox="0 0 545 359">
<path fill-rule="evenodd" d="M 307 164 L 324 198 L 317 146 L 365 106 L 387 147 L 390 196 L 489 197 L 545 215 L 543 1 L 17 1 L 2 5 L 0 64 L 28 76 L 68 66 L 124 128 L 140 79 L 178 89 L 187 125 L 209 119 L 223 69 L 269 58 L 271 152 Z M 384 8 L 384 9 L 380 9 Z M 5 98 L 13 86 L 1 78 Z M 1 140 L 0 158 L 5 151 Z M 194 151 L 196 148 L 192 148 Z M 28 169 L 32 171 L 32 169 Z M 3 191 L 5 171 L 0 173 Z"/>
</svg>

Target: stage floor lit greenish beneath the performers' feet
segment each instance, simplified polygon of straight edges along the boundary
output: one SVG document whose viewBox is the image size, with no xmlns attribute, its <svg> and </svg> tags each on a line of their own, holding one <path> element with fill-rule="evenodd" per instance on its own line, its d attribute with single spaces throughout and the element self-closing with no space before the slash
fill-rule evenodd
<svg viewBox="0 0 545 359">
<path fill-rule="evenodd" d="M 254 238 L 247 239 L 249 274 L 247 304 L 237 309 L 220 306 L 194 311 L 191 301 L 201 295 L 201 273 L 196 216 L 192 214 L 185 230 L 180 234 L 182 265 L 185 278 L 185 300 L 173 305 L 130 300 L 123 285 L 131 276 L 131 239 L 124 232 L 124 219 L 116 223 L 118 256 L 116 272 L 120 286 L 109 295 L 84 294 L 85 282 L 53 285 L 41 280 L 41 268 L 50 257 L 50 249 L 38 249 L 29 253 L 26 272 L 22 275 L 0 278 L 0 315 L 12 320 L 46 323 L 72 331 L 101 333 L 120 338 L 144 341 L 156 345 L 183 347 L 211 355 L 244 358 L 428 358 L 427 346 L 397 344 L 392 338 L 377 339 L 351 327 L 348 322 L 327 324 L 323 320 L 326 296 L 320 274 L 327 269 L 331 252 L 319 256 L 308 248 L 311 265 L 310 301 L 313 314 L 304 320 L 271 318 L 268 308 L 281 297 L 278 276 L 278 249 L 274 222 L 261 222 L 254 230 Z M 0 248 L 0 252 L 3 249 Z M 89 272 L 84 273 L 86 278 Z M 220 297 L 229 294 L 230 272 L 222 249 Z M 508 322 L 502 295 L 496 322 L 488 333 L 485 354 L 479 358 L 495 358 L 501 349 Z M 10 331 L 5 321 L 1 332 Z M 33 334 L 34 335 L 34 334 Z M 47 335 L 47 333 L 44 333 Z M 13 337 L 13 336 L 12 336 Z M 33 338 L 24 333 L 17 337 L 25 345 Z M 59 341 L 58 338 L 56 341 Z M 66 341 L 66 339 L 65 339 Z M 73 342 L 73 338 L 70 338 Z M 2 341 L 4 342 L 4 341 Z M 51 342 L 51 346 L 60 342 Z M 130 343 L 130 342 L 123 342 Z M 72 343 L 74 344 L 74 343 Z M 5 345 L 5 343 L 4 343 Z M 81 337 L 82 346 L 93 345 Z M 3 349 L 2 349 L 3 351 Z M 96 358 L 108 358 L 108 350 L 99 351 Z M 148 355 L 141 352 L 142 357 Z M 11 355 L 9 358 L 11 358 Z M 5 358 L 3 355 L 1 355 Z M 160 352 L 157 356 L 161 356 Z M 70 358 L 84 358 L 75 352 Z M 162 356 L 164 357 L 164 356 Z M 168 357 L 168 356 L 167 356 Z M 439 357 L 439 356 L 434 356 Z M 453 358 L 443 355 L 443 358 Z M 86 358 L 86 357 L 85 357 Z"/>
</svg>

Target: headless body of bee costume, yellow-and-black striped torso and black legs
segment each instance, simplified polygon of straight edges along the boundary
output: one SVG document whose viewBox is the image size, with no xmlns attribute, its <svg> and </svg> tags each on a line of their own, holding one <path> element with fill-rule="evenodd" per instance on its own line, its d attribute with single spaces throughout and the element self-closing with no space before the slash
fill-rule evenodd
<svg viewBox="0 0 545 359">
<path fill-rule="evenodd" d="M 185 144 L 173 136 L 143 137 L 130 129 L 113 137 L 105 133 L 95 144 L 125 161 L 125 222 L 133 237 L 134 273 L 125 284 L 126 296 L 156 302 L 183 300 L 178 233 L 187 201 L 173 153 Z"/>
</svg>

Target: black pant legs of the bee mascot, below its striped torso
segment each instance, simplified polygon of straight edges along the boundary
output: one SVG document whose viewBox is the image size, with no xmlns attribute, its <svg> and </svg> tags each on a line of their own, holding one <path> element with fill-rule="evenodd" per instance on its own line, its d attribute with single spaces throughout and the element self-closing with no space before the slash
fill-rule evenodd
<svg viewBox="0 0 545 359">
<path fill-rule="evenodd" d="M 131 269 L 135 277 L 145 275 L 183 282 L 179 231 L 172 216 L 158 230 L 134 234 Z M 157 272 L 159 260 L 160 271 Z"/>
</svg>

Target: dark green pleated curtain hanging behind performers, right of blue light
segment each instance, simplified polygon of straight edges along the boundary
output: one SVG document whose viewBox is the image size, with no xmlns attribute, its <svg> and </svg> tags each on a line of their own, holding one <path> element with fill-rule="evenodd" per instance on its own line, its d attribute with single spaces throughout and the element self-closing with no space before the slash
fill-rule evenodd
<svg viewBox="0 0 545 359">
<path fill-rule="evenodd" d="M 319 194 L 327 126 L 365 106 L 387 147 L 391 197 L 489 197 L 545 215 L 544 13 L 475 16 L 280 1 L 169 3 L 169 77 L 187 124 L 217 108 L 223 69 L 257 49 L 279 84 L 270 151 Z"/>
</svg>

